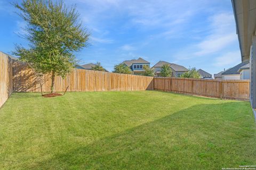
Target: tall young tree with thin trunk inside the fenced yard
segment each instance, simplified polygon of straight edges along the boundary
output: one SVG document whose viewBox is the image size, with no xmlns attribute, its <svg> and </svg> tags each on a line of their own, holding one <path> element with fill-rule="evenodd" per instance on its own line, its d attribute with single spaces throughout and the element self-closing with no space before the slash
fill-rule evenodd
<svg viewBox="0 0 256 170">
<path fill-rule="evenodd" d="M 68 9 L 61 0 L 22 0 L 14 6 L 27 23 L 22 37 L 28 40 L 29 47 L 16 45 L 13 54 L 36 73 L 51 73 L 53 93 L 55 76 L 65 78 L 71 71 L 76 64 L 73 53 L 87 46 L 90 33 L 82 28 L 75 7 Z"/>
</svg>

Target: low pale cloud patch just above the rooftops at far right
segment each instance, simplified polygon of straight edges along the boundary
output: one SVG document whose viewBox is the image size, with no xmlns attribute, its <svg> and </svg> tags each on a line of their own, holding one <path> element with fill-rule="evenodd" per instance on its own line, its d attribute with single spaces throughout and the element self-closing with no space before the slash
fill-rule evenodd
<svg viewBox="0 0 256 170">
<path fill-rule="evenodd" d="M 241 53 L 239 50 L 222 54 L 215 59 L 214 66 L 232 66 L 241 62 Z"/>
</svg>

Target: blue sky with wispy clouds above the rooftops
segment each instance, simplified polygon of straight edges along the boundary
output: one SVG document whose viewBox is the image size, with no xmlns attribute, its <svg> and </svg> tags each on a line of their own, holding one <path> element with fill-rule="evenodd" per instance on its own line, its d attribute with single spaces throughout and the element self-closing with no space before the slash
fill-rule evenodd
<svg viewBox="0 0 256 170">
<path fill-rule="evenodd" d="M 0 0 L 0 50 L 12 53 L 25 22 Z M 17 0 L 16 2 L 20 2 Z M 76 53 L 79 64 L 100 62 L 107 70 L 142 57 L 153 66 L 167 61 L 218 73 L 241 62 L 230 0 L 69 0 L 91 32 L 90 46 Z M 4 24 L 3 24 L 4 23 Z"/>
</svg>

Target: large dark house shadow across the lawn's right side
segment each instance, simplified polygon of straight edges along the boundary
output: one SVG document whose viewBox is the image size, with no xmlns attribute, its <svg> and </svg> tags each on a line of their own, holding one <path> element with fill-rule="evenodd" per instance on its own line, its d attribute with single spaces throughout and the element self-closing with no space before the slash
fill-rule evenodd
<svg viewBox="0 0 256 170">
<path fill-rule="evenodd" d="M 256 151 L 250 114 L 249 103 L 242 101 L 195 105 L 87 146 L 63 148 L 62 153 L 27 169 L 221 169 L 250 165 Z"/>
</svg>

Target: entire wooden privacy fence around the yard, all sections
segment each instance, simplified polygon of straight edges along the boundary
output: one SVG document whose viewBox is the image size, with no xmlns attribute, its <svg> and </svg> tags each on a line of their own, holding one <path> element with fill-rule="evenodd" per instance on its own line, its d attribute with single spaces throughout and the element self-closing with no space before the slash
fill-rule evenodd
<svg viewBox="0 0 256 170">
<path fill-rule="evenodd" d="M 51 91 L 51 75 L 38 76 L 27 64 L 1 58 L 0 105 L 12 89 L 14 92 Z M 12 69 L 10 66 L 12 65 Z M 7 69 L 9 68 L 9 69 Z M 4 74 L 2 74 L 4 73 Z M 11 75 L 12 81 L 11 81 Z M 4 82 L 4 83 L 3 83 Z M 162 90 L 181 94 L 223 99 L 249 100 L 249 80 L 203 80 L 187 78 L 159 78 L 74 69 L 66 79 L 55 78 L 55 91 L 132 91 Z M 13 87 L 13 88 L 11 88 Z M 2 102 L 2 103 L 3 103 Z"/>
</svg>

